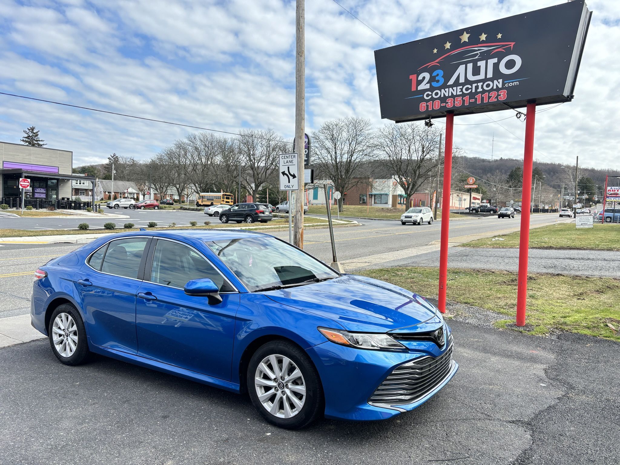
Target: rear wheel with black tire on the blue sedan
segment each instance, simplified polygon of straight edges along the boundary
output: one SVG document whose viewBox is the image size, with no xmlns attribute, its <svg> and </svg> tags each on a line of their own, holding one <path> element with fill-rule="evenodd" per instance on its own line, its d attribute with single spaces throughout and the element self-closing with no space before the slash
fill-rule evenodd
<svg viewBox="0 0 620 465">
<path fill-rule="evenodd" d="M 80 365 L 87 360 L 86 328 L 78 309 L 72 304 L 62 304 L 55 309 L 47 330 L 51 351 L 61 363 Z"/>
</svg>

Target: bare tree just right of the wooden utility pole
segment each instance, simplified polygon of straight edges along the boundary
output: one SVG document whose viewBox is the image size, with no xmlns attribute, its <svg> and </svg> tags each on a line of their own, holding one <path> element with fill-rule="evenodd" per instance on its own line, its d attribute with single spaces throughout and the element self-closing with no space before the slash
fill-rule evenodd
<svg viewBox="0 0 620 465">
<path fill-rule="evenodd" d="M 361 167 L 374 153 L 373 130 L 370 121 L 347 117 L 331 120 L 312 133 L 313 164 L 322 177 L 330 179 L 337 191 L 344 193 L 368 176 Z M 338 201 L 342 211 L 342 197 Z"/>
</svg>

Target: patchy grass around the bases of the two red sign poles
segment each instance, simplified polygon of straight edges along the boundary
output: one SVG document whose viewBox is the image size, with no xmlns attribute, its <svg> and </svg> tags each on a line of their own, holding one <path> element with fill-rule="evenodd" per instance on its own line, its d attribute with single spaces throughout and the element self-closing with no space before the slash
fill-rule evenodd
<svg viewBox="0 0 620 465">
<path fill-rule="evenodd" d="M 437 268 L 382 268 L 363 275 L 394 283 L 429 297 L 438 295 Z M 497 327 L 514 323 L 517 274 L 485 270 L 448 270 L 448 299 L 507 316 Z M 467 290 L 476 290 L 475 292 Z M 528 275 L 526 332 L 562 330 L 606 337 L 620 342 L 620 280 L 580 276 Z"/>
</svg>

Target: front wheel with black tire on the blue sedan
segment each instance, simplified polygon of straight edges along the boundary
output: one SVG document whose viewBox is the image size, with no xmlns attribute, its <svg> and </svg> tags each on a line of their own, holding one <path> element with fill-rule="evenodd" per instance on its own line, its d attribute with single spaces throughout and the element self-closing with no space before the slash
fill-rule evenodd
<svg viewBox="0 0 620 465">
<path fill-rule="evenodd" d="M 283 368 L 285 371 L 282 371 Z M 291 378 L 296 371 L 299 371 L 299 376 Z M 290 383 L 285 383 L 287 374 Z M 268 378 L 272 375 L 277 381 Z M 317 420 L 324 412 L 325 399 L 319 373 L 308 354 L 290 341 L 273 340 L 259 347 L 250 359 L 246 379 L 252 404 L 272 425 L 299 430 Z M 273 387 L 269 384 L 273 384 Z M 278 384 L 285 386 L 285 394 L 282 396 Z M 288 386 L 296 388 L 290 389 Z M 272 396 L 268 396 L 269 392 L 273 393 Z M 288 405 L 288 409 L 285 405 Z"/>
</svg>

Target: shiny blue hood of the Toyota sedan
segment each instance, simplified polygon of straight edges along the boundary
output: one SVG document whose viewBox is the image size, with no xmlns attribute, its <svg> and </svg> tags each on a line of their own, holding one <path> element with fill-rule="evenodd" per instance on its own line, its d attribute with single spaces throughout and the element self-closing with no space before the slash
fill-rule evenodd
<svg viewBox="0 0 620 465">
<path fill-rule="evenodd" d="M 344 329 L 387 332 L 438 316 L 433 304 L 398 286 L 356 275 L 265 292 L 268 298 L 338 322 Z"/>
</svg>

